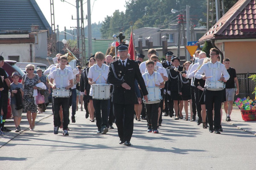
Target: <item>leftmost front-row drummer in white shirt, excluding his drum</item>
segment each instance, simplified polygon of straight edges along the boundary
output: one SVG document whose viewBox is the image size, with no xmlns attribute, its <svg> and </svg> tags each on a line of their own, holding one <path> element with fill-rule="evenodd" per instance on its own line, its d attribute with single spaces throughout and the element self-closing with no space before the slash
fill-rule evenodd
<svg viewBox="0 0 256 170">
<path fill-rule="evenodd" d="M 55 69 L 51 73 L 51 79 L 49 85 L 52 89 L 66 89 L 69 90 L 73 86 L 73 72 L 66 68 L 68 58 L 66 56 L 60 57 L 60 67 Z M 62 106 L 63 112 L 63 135 L 68 136 L 68 117 L 69 117 L 69 97 L 54 97 L 53 107 L 54 107 L 54 134 L 58 134 L 59 127 L 61 126 L 59 109 Z"/>
</svg>

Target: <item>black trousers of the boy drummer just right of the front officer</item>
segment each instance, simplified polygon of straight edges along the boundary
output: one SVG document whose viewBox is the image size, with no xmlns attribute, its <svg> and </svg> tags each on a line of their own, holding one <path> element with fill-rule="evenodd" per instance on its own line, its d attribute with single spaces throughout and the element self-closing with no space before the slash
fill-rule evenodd
<svg viewBox="0 0 256 170">
<path fill-rule="evenodd" d="M 147 127 L 157 130 L 158 108 L 160 103 L 145 104 L 147 114 Z"/>
</svg>

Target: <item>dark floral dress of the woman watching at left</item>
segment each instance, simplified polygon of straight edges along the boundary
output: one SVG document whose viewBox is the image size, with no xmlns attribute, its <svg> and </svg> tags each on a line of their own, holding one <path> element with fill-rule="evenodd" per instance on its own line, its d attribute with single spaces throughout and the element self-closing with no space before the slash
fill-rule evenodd
<svg viewBox="0 0 256 170">
<path fill-rule="evenodd" d="M 26 74 L 25 74 L 26 75 Z M 25 79 L 25 75 L 23 75 L 23 80 Z M 39 76 L 36 74 L 32 79 L 26 78 L 24 82 L 24 96 L 23 96 L 23 112 L 31 111 L 32 113 L 37 112 L 37 105 L 35 104 L 33 97 L 33 86 L 38 84 Z"/>
</svg>

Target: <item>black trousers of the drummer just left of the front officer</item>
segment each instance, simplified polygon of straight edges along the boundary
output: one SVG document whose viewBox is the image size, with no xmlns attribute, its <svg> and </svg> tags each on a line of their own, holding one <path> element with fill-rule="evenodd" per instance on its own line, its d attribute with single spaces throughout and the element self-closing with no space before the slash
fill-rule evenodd
<svg viewBox="0 0 256 170">
<path fill-rule="evenodd" d="M 107 111 L 108 103 L 109 103 L 109 99 L 105 99 L 105 100 L 93 99 L 96 125 L 98 127 L 98 130 L 100 130 L 104 126 L 109 127 L 108 111 Z"/>
</svg>

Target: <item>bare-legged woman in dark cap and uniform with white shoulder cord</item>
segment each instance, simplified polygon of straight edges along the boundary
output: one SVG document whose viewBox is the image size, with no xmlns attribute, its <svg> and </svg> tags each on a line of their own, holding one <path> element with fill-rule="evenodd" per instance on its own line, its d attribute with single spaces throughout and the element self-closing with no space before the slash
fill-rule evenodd
<svg viewBox="0 0 256 170">
<path fill-rule="evenodd" d="M 183 102 L 181 101 L 181 96 L 179 94 L 179 89 L 178 89 L 178 81 L 179 81 L 179 72 L 175 71 L 174 69 L 177 68 L 179 71 L 183 70 L 183 67 L 180 66 L 180 59 L 179 57 L 173 57 L 171 60 L 174 64 L 174 66 L 168 67 L 167 68 L 167 73 L 168 73 L 168 107 L 169 107 L 169 111 L 172 111 L 172 108 L 174 107 L 174 111 L 176 114 L 176 118 L 175 120 L 178 120 L 179 118 L 183 119 L 183 116 L 179 117 L 179 106 L 180 109 L 182 109 L 183 107 Z M 172 105 L 172 103 L 170 102 L 171 100 L 173 100 L 174 106 Z M 180 101 L 180 104 L 179 104 Z M 170 114 L 170 113 L 169 113 Z M 170 117 L 172 117 L 172 115 L 169 115 Z"/>
</svg>

